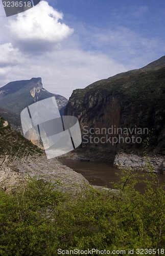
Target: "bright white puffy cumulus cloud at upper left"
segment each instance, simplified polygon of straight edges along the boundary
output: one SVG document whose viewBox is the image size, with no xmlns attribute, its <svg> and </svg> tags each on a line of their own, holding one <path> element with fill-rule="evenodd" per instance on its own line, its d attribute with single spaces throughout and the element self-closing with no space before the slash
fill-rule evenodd
<svg viewBox="0 0 165 256">
<path fill-rule="evenodd" d="M 62 18 L 62 13 L 41 1 L 34 8 L 19 13 L 16 20 L 9 20 L 8 28 L 16 46 L 23 51 L 51 51 L 74 31 L 59 21 Z"/>
</svg>

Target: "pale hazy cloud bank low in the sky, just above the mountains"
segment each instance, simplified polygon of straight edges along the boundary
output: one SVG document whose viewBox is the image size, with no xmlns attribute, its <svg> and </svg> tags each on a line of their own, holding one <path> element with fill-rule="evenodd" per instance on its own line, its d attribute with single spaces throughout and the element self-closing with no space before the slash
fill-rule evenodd
<svg viewBox="0 0 165 256">
<path fill-rule="evenodd" d="M 105 54 L 81 49 L 61 49 L 42 56 L 31 56 L 23 65 L 9 67 L 6 79 L 0 87 L 11 80 L 42 77 L 43 87 L 66 98 L 72 91 L 88 84 L 120 73 L 126 68 Z"/>
</svg>

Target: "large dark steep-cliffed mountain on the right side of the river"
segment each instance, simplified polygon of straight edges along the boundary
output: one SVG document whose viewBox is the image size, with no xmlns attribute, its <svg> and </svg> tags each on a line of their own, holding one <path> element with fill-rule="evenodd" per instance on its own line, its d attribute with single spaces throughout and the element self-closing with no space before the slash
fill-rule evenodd
<svg viewBox="0 0 165 256">
<path fill-rule="evenodd" d="M 84 147 L 142 155 L 149 138 L 148 152 L 165 155 L 165 56 L 74 90 L 64 113 L 78 117 Z"/>
</svg>

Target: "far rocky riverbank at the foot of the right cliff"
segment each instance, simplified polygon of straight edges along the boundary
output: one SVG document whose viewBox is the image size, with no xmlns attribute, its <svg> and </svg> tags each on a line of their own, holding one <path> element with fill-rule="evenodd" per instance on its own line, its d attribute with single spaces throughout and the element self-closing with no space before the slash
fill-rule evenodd
<svg viewBox="0 0 165 256">
<path fill-rule="evenodd" d="M 165 174 L 165 156 L 150 155 L 148 157 L 139 156 L 134 153 L 126 154 L 123 152 L 115 154 L 112 151 L 95 148 L 78 148 L 69 152 L 58 159 L 72 159 L 81 161 L 102 161 L 110 162 L 113 167 L 120 169 L 132 168 L 137 171 L 149 171 L 148 165 L 155 173 Z"/>
</svg>

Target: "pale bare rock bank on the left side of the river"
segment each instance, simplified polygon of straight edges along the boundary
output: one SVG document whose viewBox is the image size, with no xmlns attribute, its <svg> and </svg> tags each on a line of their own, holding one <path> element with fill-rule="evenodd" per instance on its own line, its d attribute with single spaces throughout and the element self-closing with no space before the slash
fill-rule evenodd
<svg viewBox="0 0 165 256">
<path fill-rule="evenodd" d="M 21 159 L 0 156 L 0 166 L 0 187 L 7 191 L 18 187 L 29 176 L 44 181 L 59 181 L 67 189 L 89 184 L 81 174 L 61 164 L 56 158 L 48 160 L 45 155 Z"/>
</svg>

